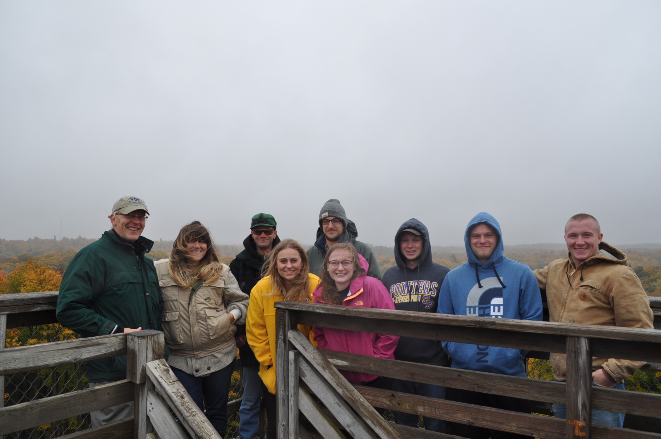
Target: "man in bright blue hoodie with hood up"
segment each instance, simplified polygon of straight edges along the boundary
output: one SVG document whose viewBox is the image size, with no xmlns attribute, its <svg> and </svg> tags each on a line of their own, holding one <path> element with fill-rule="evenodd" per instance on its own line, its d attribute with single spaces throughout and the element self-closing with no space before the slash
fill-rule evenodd
<svg viewBox="0 0 661 439">
<path fill-rule="evenodd" d="M 464 237 L 468 262 L 446 276 L 438 313 L 498 319 L 542 319 L 541 293 L 535 274 L 525 264 L 503 256 L 502 232 L 496 218 L 480 212 L 468 223 Z M 496 346 L 443 342 L 457 369 L 525 377 L 525 351 Z M 447 389 L 449 401 L 530 413 L 529 401 L 462 389 Z M 447 422 L 451 434 L 471 439 L 524 438 L 457 422 Z"/>
</svg>

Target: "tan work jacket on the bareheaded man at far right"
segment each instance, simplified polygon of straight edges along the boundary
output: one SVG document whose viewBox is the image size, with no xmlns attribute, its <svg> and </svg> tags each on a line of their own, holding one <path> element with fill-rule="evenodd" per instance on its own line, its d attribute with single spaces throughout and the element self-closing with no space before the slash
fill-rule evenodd
<svg viewBox="0 0 661 439">
<path fill-rule="evenodd" d="M 574 270 L 571 255 L 535 270 L 539 289 L 546 291 L 549 320 L 580 325 L 652 329 L 654 315 L 641 280 L 629 267 L 627 255 L 602 242 L 599 253 Z M 581 277 L 583 280 L 581 280 Z M 571 284 L 570 284 L 571 282 Z M 632 376 L 641 361 L 592 358 L 594 369 L 603 368 L 615 381 Z M 566 356 L 551 353 L 555 378 L 566 380 Z"/>
</svg>

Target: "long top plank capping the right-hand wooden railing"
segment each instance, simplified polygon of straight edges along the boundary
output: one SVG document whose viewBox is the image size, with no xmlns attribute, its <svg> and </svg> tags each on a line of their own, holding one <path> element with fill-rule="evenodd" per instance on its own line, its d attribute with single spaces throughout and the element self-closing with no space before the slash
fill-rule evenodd
<svg viewBox="0 0 661 439">
<path fill-rule="evenodd" d="M 562 335 L 661 343 L 661 332 L 654 329 L 631 329 L 623 327 L 577 325 L 574 323 L 555 323 L 516 319 L 490 319 L 486 317 L 469 317 L 466 315 L 399 311 L 397 309 L 347 307 L 342 305 L 320 305 L 317 303 L 293 301 L 280 301 L 275 303 L 274 306 L 279 309 L 303 311 L 303 313 L 311 313 L 314 315 L 326 314 L 334 315 L 336 317 L 344 315 L 411 323 L 430 323 L 432 325 L 499 329 L 502 331 L 518 331 L 523 333 L 530 332 L 539 335 Z M 303 324 L 303 313 L 299 316 L 300 324 Z M 308 317 L 305 317 L 305 319 L 307 322 Z M 305 324 L 307 325 L 309 323 Z"/>
</svg>

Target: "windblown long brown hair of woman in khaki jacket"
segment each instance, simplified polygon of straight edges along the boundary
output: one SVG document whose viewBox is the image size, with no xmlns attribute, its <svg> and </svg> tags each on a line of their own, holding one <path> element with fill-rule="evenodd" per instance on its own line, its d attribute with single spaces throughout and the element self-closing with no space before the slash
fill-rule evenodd
<svg viewBox="0 0 661 439">
<path fill-rule="evenodd" d="M 207 245 L 207 251 L 200 262 L 190 262 L 188 259 L 188 243 L 200 241 Z M 211 239 L 209 230 L 200 223 L 193 221 L 184 225 L 175 239 L 168 262 L 170 276 L 181 288 L 190 288 L 198 279 L 205 285 L 214 284 L 220 277 L 223 266 L 218 251 Z"/>
</svg>

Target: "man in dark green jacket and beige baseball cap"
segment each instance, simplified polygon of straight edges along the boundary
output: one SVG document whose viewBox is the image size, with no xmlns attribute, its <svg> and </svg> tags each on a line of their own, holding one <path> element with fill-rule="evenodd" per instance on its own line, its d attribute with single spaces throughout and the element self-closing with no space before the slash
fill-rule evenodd
<svg viewBox="0 0 661 439">
<path fill-rule="evenodd" d="M 161 330 L 163 297 L 153 260 L 153 241 L 140 236 L 149 212 L 125 196 L 112 207 L 112 229 L 75 255 L 59 287 L 58 321 L 83 337 Z M 166 346 L 167 349 L 167 346 Z M 87 362 L 89 387 L 126 379 L 126 355 Z M 132 416 L 133 403 L 91 413 L 92 426 Z"/>
</svg>

